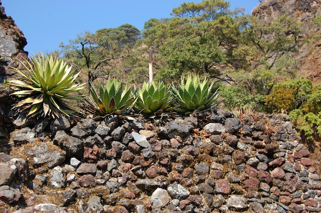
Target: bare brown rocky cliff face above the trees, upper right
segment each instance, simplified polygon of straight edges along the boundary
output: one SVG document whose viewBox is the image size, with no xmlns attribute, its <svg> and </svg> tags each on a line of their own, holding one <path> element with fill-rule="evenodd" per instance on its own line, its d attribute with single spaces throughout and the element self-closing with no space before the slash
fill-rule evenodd
<svg viewBox="0 0 321 213">
<path fill-rule="evenodd" d="M 288 14 L 303 24 L 304 36 L 309 39 L 312 33 L 320 34 L 313 27 L 312 19 L 321 13 L 321 1 L 316 0 L 266 0 L 259 4 L 252 14 L 260 23 L 272 22 L 278 15 Z M 313 83 L 321 83 L 321 40 L 304 44 L 295 53 L 298 62 L 297 75 L 304 76 Z"/>
</svg>

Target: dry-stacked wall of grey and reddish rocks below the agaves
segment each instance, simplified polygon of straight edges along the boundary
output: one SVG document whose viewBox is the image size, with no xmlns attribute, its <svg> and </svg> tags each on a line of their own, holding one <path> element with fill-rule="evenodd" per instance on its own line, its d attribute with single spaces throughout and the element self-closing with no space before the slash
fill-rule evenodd
<svg viewBox="0 0 321 213">
<path fill-rule="evenodd" d="M 11 133 L 11 154 L 0 154 L 2 212 L 321 209 L 310 152 L 285 114 L 221 110 L 157 127 L 116 116 L 61 120 Z"/>
</svg>

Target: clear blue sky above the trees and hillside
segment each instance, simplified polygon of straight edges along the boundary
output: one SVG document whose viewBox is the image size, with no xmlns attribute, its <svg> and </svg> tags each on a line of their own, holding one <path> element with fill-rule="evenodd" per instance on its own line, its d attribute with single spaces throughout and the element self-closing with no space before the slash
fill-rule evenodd
<svg viewBox="0 0 321 213">
<path fill-rule="evenodd" d="M 31 55 L 59 50 L 61 41 L 68 44 L 85 31 L 123 24 L 142 30 L 150 18 L 172 17 L 172 9 L 184 2 L 202 0 L 2 0 L 2 6 L 23 31 L 28 42 L 24 49 Z M 231 9 L 244 7 L 246 13 L 258 5 L 257 0 L 229 2 Z"/>
</svg>

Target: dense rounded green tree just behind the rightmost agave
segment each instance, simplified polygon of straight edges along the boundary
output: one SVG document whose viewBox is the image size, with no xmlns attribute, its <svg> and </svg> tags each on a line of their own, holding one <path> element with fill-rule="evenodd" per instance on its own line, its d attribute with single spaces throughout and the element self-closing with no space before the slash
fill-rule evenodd
<svg viewBox="0 0 321 213">
<path fill-rule="evenodd" d="M 182 32 L 160 47 L 159 52 L 167 61 L 168 72 L 160 76 L 178 77 L 182 72 L 217 74 L 214 67 L 225 62 L 225 54 L 219 48 L 215 33 L 203 34 L 202 26 L 185 24 Z"/>
</svg>

